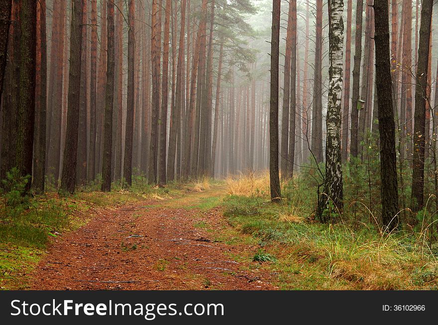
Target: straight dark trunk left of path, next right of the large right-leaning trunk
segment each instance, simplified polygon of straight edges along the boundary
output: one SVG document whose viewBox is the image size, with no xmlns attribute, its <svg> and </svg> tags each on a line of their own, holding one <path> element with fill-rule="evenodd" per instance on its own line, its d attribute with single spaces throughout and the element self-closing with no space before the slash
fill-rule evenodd
<svg viewBox="0 0 438 325">
<path fill-rule="evenodd" d="M 114 102 L 114 2 L 108 1 L 107 83 L 105 88 L 104 150 L 102 155 L 103 192 L 111 190 L 112 106 Z"/>
</svg>

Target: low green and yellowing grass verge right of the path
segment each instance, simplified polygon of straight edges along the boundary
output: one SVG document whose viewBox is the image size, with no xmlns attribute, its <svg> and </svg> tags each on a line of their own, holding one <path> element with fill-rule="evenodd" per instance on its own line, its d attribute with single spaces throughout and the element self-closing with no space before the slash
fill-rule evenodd
<svg viewBox="0 0 438 325">
<path fill-rule="evenodd" d="M 278 274 L 280 288 L 438 289 L 437 249 L 429 249 L 419 234 L 381 235 L 366 224 L 323 225 L 304 217 L 290 222 L 279 217 L 294 208 L 287 204 L 292 203 L 235 195 L 222 204 L 228 224 L 259 247 L 246 259 L 269 262 L 261 267 Z"/>
</svg>

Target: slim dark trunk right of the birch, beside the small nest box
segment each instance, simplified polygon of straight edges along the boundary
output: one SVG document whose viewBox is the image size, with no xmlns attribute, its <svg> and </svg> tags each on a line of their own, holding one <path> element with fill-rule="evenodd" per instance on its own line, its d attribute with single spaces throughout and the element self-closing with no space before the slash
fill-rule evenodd
<svg viewBox="0 0 438 325">
<path fill-rule="evenodd" d="M 362 12 L 363 0 L 357 1 L 356 6 L 356 34 L 353 67 L 353 88 L 351 101 L 351 130 L 350 130 L 350 155 L 357 157 L 357 132 L 359 118 L 359 82 L 360 82 L 360 61 L 362 58 Z"/>
</svg>

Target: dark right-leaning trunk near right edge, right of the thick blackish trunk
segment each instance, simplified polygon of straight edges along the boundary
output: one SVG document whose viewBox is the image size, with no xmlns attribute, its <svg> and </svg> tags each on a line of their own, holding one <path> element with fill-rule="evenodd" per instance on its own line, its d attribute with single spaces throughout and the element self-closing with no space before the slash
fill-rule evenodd
<svg viewBox="0 0 438 325">
<path fill-rule="evenodd" d="M 424 165 L 425 165 L 425 126 L 426 98 L 432 23 L 432 0 L 423 0 L 418 47 L 417 80 L 415 88 L 414 112 L 414 162 L 412 172 L 412 207 L 416 213 L 424 205 Z"/>
</svg>

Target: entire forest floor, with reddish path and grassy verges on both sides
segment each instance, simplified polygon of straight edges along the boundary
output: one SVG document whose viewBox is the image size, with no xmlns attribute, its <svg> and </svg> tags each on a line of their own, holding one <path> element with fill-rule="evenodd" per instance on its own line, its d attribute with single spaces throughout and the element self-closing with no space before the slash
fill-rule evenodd
<svg viewBox="0 0 438 325">
<path fill-rule="evenodd" d="M 241 176 L 0 203 L 0 289 L 438 289 L 438 245 L 362 221 L 314 220 L 314 188 Z"/>
</svg>

